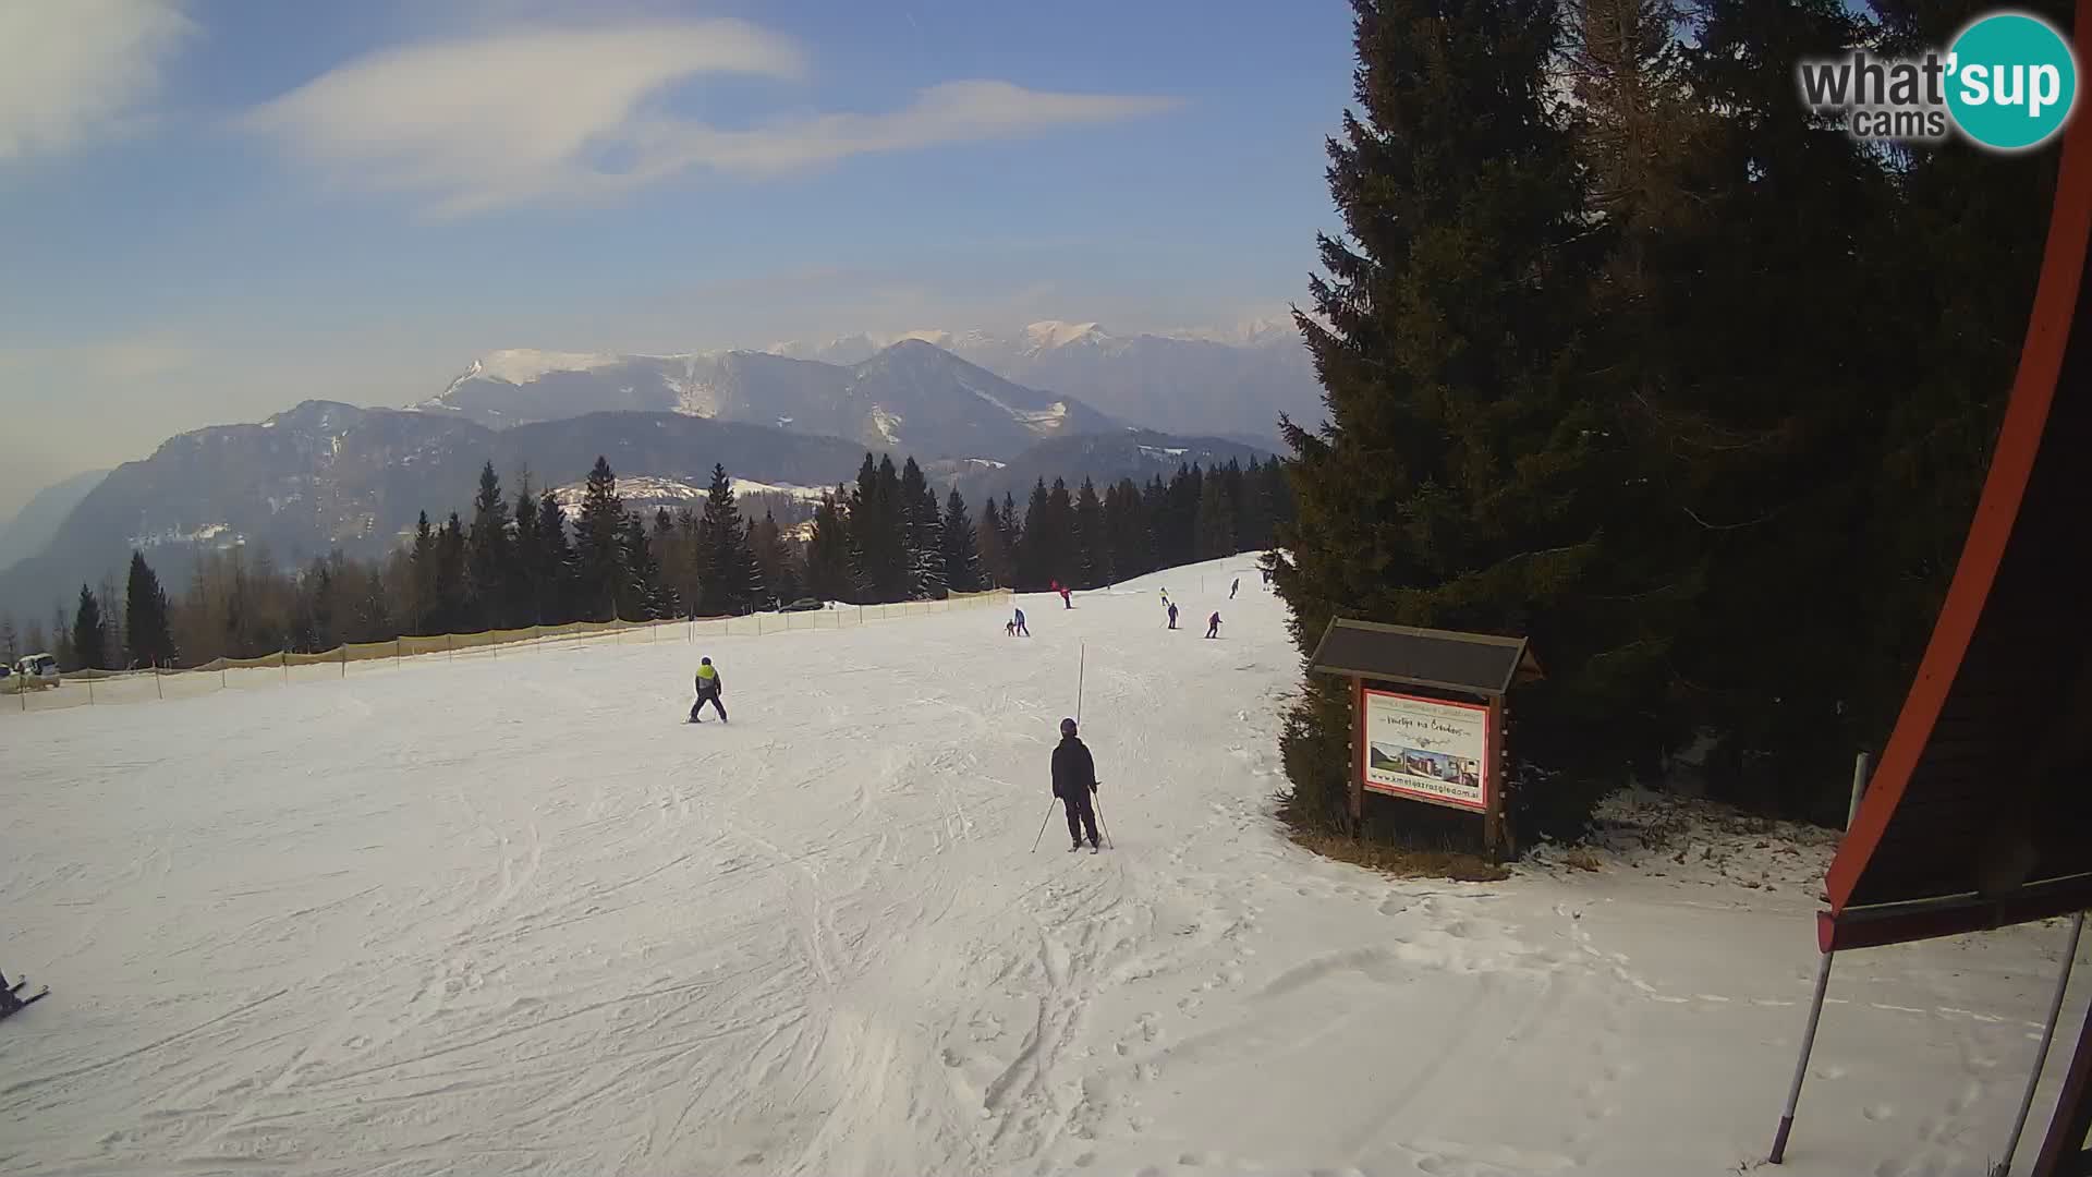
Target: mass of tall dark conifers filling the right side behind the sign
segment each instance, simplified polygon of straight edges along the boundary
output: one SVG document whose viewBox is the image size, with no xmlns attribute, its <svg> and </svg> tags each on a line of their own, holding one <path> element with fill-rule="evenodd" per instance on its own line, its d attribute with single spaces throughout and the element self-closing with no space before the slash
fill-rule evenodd
<svg viewBox="0 0 2092 1177">
<path fill-rule="evenodd" d="M 1795 65 L 1937 48 L 1979 8 L 1354 0 L 1343 232 L 1297 316 L 1328 421 L 1284 423 L 1274 582 L 1303 653 L 1333 616 L 1527 635 L 1527 829 L 1695 743 L 1718 796 L 1839 821 L 1887 739 L 2056 151 L 1862 145 Z M 1341 683 L 1305 676 L 1282 752 L 1289 815 L 1345 825 Z M 1372 808 L 1377 834 L 1429 825 Z"/>
</svg>

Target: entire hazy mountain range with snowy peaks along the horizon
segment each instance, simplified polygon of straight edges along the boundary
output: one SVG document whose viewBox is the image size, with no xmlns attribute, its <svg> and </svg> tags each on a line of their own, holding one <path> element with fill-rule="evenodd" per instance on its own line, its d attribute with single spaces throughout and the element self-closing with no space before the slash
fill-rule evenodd
<svg viewBox="0 0 2092 1177">
<path fill-rule="evenodd" d="M 1061 383 L 1048 392 L 1015 371 Z M 703 486 L 724 463 L 791 494 L 851 480 L 872 450 L 914 457 L 975 501 L 1023 496 L 1036 478 L 1102 486 L 1190 461 L 1247 463 L 1274 448 L 1280 410 L 1320 419 L 1291 325 L 1228 341 L 1036 323 L 1019 335 L 856 335 L 768 352 L 494 352 L 408 408 L 305 402 L 50 488 L 0 532 L 17 555 L 36 551 L 0 561 L 0 605 L 69 601 L 79 582 L 121 572 L 132 549 L 151 553 L 169 588 L 213 547 L 266 547 L 278 561 L 331 547 L 379 553 L 418 511 L 462 513 L 485 461 L 504 480 L 529 469 L 552 486 L 596 454 L 663 486 Z M 1155 423 L 1190 423 L 1197 436 L 1144 429 Z"/>
</svg>

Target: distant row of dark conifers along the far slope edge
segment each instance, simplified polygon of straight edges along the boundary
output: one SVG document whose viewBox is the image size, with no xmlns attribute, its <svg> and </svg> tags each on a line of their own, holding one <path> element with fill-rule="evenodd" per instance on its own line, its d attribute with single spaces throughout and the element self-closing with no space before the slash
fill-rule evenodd
<svg viewBox="0 0 2092 1177">
<path fill-rule="evenodd" d="M 1180 467 L 1163 482 L 1132 480 L 1102 494 L 1056 480 L 1019 511 L 1004 496 L 975 519 L 956 488 L 943 498 L 914 459 L 864 457 L 856 486 L 824 494 L 810 536 L 772 513 L 743 515 L 724 465 L 699 509 L 623 503 L 617 473 L 596 459 L 573 517 L 525 473 L 504 492 L 487 463 L 469 513 L 420 513 L 410 540 L 383 559 L 341 551 L 278 568 L 268 551 L 201 557 L 184 593 L 167 595 L 144 553 L 130 578 L 19 630 L 0 618 L 0 653 L 50 649 L 63 668 L 199 666 L 215 658 L 316 653 L 404 635 L 567 624 L 718 618 L 801 597 L 847 603 L 941 599 L 1050 582 L 1094 588 L 1157 568 L 1270 542 L 1291 511 L 1278 463 Z M 46 645 L 50 639 L 50 645 Z"/>
</svg>

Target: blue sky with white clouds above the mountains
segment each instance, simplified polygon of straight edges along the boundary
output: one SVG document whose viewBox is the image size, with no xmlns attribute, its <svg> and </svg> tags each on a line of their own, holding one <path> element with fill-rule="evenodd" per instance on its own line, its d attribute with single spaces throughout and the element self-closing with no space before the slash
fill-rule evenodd
<svg viewBox="0 0 2092 1177">
<path fill-rule="evenodd" d="M 0 517 L 496 348 L 1305 293 L 1341 0 L 0 4 Z"/>
</svg>

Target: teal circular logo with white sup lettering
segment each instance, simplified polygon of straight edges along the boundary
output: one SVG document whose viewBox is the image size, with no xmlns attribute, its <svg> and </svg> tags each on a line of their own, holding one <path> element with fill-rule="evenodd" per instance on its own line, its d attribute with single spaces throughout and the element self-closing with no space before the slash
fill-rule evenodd
<svg viewBox="0 0 2092 1177">
<path fill-rule="evenodd" d="M 2077 57 L 2040 17 L 1994 13 L 1948 46 L 1948 111 L 1994 151 L 2048 142 L 2077 105 Z"/>
</svg>

